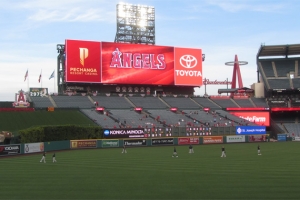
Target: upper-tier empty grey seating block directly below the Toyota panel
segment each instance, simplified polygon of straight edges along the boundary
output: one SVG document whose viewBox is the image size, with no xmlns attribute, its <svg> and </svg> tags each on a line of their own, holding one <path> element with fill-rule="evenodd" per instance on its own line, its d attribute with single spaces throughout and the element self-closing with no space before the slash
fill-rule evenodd
<svg viewBox="0 0 300 200">
<path fill-rule="evenodd" d="M 180 109 L 199 109 L 200 106 L 192 101 L 190 98 L 185 97 L 162 97 L 162 99 L 167 102 L 171 107 L 176 107 Z"/>
</svg>

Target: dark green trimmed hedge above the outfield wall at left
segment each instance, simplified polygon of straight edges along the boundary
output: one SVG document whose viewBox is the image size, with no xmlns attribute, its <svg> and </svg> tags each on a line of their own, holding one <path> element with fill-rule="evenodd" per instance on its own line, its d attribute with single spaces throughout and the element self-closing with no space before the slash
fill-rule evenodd
<svg viewBox="0 0 300 200">
<path fill-rule="evenodd" d="M 77 139 L 101 139 L 102 128 L 95 126 L 42 126 L 20 130 L 21 143 Z"/>
</svg>

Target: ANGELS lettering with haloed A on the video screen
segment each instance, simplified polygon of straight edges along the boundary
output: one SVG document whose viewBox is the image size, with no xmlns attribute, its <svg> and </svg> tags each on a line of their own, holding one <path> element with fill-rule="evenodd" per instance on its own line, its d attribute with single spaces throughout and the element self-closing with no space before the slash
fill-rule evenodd
<svg viewBox="0 0 300 200">
<path fill-rule="evenodd" d="M 116 48 L 112 52 L 110 67 L 163 70 L 166 68 L 166 62 L 163 54 L 122 53 Z"/>
</svg>

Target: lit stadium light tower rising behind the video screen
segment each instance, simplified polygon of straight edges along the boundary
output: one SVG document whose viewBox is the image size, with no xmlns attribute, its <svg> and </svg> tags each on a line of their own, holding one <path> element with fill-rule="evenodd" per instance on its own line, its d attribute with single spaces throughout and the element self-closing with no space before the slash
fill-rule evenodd
<svg viewBox="0 0 300 200">
<path fill-rule="evenodd" d="M 117 4 L 115 42 L 155 44 L 155 10 L 153 6 Z"/>
</svg>

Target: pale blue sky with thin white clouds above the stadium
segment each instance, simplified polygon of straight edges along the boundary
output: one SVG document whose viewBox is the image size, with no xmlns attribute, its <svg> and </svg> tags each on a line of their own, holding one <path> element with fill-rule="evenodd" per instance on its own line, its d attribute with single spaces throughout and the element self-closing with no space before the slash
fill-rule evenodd
<svg viewBox="0 0 300 200">
<path fill-rule="evenodd" d="M 116 0 L 1 0 L 0 101 L 14 101 L 29 87 L 54 92 L 56 45 L 65 39 L 113 42 Z M 300 43 L 298 0 L 128 0 L 155 7 L 156 45 L 200 48 L 206 55 L 203 78 L 232 79 L 225 62 L 238 55 L 245 87 L 257 82 L 261 46 Z M 24 82 L 28 69 L 29 85 Z M 42 81 L 38 82 L 42 72 Z M 217 94 L 223 86 L 207 86 Z M 56 91 L 55 91 L 56 92 Z M 196 89 L 204 94 L 204 86 Z"/>
</svg>

